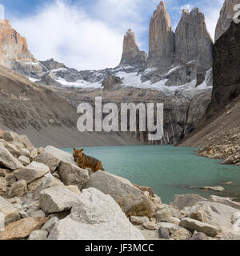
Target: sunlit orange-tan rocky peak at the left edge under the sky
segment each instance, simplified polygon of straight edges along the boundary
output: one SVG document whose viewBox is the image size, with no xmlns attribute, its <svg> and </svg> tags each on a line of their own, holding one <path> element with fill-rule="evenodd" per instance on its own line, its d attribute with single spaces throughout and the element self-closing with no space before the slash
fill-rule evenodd
<svg viewBox="0 0 240 256">
<path fill-rule="evenodd" d="M 37 62 L 28 50 L 26 38 L 12 29 L 8 20 L 0 20 L 0 63 L 11 67 L 14 61 Z"/>
</svg>

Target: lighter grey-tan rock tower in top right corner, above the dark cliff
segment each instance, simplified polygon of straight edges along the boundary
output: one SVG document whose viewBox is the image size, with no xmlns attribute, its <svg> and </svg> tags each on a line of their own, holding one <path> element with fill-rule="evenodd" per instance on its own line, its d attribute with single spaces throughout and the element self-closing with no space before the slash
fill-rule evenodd
<svg viewBox="0 0 240 256">
<path fill-rule="evenodd" d="M 215 30 L 215 42 L 229 29 L 234 14 L 236 14 L 234 6 L 237 4 L 239 4 L 238 0 L 225 0 Z"/>
</svg>

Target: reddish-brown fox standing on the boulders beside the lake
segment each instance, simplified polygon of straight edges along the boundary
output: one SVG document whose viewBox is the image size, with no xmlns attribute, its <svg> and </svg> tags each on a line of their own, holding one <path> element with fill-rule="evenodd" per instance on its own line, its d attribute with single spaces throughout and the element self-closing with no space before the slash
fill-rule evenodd
<svg viewBox="0 0 240 256">
<path fill-rule="evenodd" d="M 83 154 L 82 150 L 76 150 L 74 148 L 74 161 L 77 162 L 78 167 L 82 169 L 90 168 L 93 173 L 97 172 L 98 170 L 105 171 L 104 168 L 102 167 L 102 162 L 99 161 L 96 158 L 92 158 L 86 154 Z"/>
</svg>

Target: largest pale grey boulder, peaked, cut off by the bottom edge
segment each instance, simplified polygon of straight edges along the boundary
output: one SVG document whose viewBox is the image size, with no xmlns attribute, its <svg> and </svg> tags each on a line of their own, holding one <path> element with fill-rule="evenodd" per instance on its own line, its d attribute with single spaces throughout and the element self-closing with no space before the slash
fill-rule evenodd
<svg viewBox="0 0 240 256">
<path fill-rule="evenodd" d="M 55 224 L 49 240 L 144 240 L 109 195 L 83 190 L 71 214 Z"/>
</svg>

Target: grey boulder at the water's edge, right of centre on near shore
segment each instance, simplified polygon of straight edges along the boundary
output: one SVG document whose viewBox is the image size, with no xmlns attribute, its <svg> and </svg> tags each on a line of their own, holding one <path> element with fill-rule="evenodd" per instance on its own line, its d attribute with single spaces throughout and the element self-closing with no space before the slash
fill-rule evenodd
<svg viewBox="0 0 240 256">
<path fill-rule="evenodd" d="M 206 198 L 202 198 L 199 194 L 176 194 L 173 205 L 183 210 L 185 207 L 194 206 L 197 202 L 201 201 L 206 201 Z"/>
</svg>

